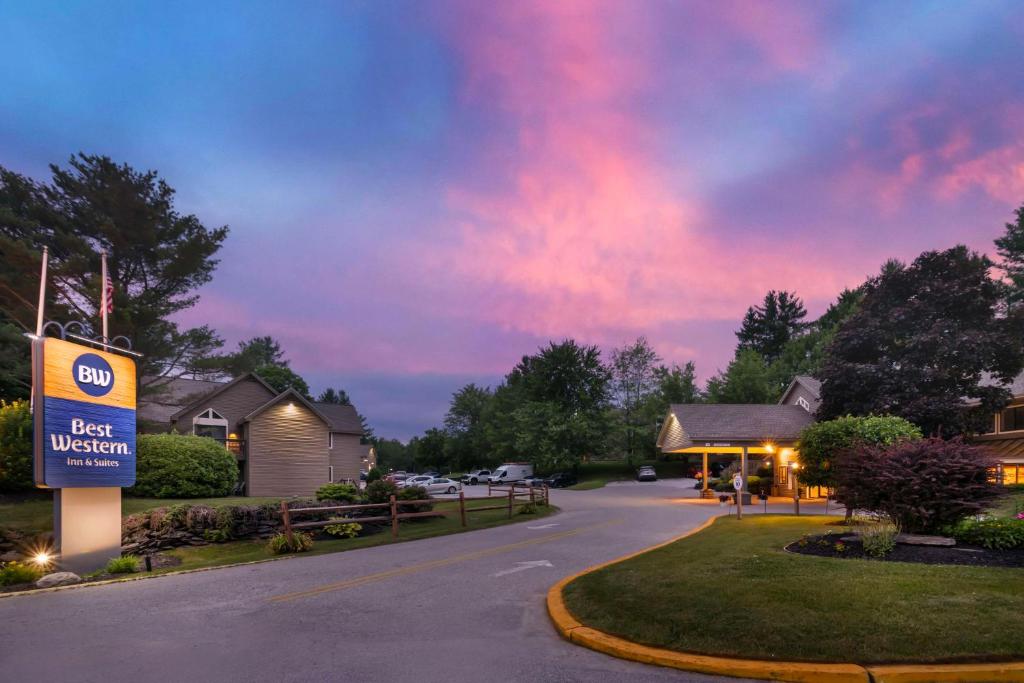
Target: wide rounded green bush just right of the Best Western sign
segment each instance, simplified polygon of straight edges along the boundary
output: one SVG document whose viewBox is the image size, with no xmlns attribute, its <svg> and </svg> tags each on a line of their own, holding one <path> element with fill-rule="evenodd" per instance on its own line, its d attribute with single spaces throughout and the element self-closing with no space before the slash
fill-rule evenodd
<svg viewBox="0 0 1024 683">
<path fill-rule="evenodd" d="M 133 496 L 212 498 L 229 496 L 239 478 L 234 456 L 212 438 L 139 434 Z"/>
</svg>

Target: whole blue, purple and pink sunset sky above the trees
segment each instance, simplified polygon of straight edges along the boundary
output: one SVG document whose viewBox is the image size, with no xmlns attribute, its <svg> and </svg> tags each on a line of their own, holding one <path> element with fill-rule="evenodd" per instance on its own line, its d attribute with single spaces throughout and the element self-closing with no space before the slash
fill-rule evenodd
<svg viewBox="0 0 1024 683">
<path fill-rule="evenodd" d="M 816 315 L 991 254 L 1022 45 L 1019 0 L 5 2 L 0 165 L 159 170 L 231 229 L 181 322 L 279 338 L 404 439 L 550 339 L 707 379 L 768 289 Z"/>
</svg>

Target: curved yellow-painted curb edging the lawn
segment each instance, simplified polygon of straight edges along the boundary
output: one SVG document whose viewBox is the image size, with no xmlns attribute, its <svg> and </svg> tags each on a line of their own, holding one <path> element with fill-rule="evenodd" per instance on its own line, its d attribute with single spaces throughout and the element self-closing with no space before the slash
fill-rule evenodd
<svg viewBox="0 0 1024 683">
<path fill-rule="evenodd" d="M 577 620 L 565 606 L 562 593 L 566 586 L 580 577 L 698 533 L 715 523 L 716 519 L 718 519 L 717 516 L 712 517 L 695 528 L 665 543 L 602 564 L 596 564 L 559 581 L 548 590 L 547 597 L 548 615 L 551 617 L 555 630 L 574 645 L 582 645 L 621 659 L 699 674 L 736 678 L 792 681 L 794 683 L 974 683 L 979 681 L 1001 683 L 1004 681 L 1024 681 L 1024 661 L 862 667 L 845 663 L 769 661 L 679 652 L 641 645 L 592 629 Z"/>
</svg>

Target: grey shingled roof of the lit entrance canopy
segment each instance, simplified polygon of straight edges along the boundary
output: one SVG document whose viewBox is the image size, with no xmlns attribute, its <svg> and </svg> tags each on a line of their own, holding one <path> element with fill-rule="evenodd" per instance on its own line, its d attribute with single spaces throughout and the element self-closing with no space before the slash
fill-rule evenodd
<svg viewBox="0 0 1024 683">
<path fill-rule="evenodd" d="M 701 442 L 796 441 L 812 422 L 814 417 L 799 405 L 675 403 L 658 440 L 663 450 Z"/>
</svg>

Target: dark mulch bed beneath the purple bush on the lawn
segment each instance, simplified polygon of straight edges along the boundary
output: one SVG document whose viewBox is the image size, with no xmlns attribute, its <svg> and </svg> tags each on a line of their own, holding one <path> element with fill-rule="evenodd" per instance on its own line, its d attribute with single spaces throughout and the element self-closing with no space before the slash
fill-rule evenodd
<svg viewBox="0 0 1024 683">
<path fill-rule="evenodd" d="M 839 545 L 842 550 L 837 550 Z M 1024 548 L 1012 550 L 988 550 L 978 546 L 955 545 L 952 547 L 908 546 L 897 544 L 892 552 L 883 558 L 871 557 L 864 552 L 859 541 L 840 541 L 839 536 L 808 536 L 794 541 L 784 550 L 800 555 L 836 557 L 840 559 L 867 559 L 878 562 L 916 562 L 919 564 L 959 564 L 979 567 L 1024 567 Z"/>
</svg>

